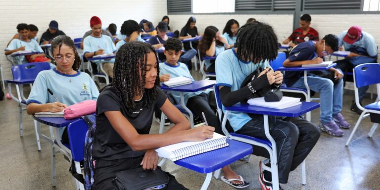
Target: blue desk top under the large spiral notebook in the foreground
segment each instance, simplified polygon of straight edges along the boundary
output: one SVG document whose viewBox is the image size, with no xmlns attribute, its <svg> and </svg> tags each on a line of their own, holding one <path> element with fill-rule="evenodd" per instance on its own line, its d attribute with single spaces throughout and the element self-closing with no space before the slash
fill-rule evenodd
<svg viewBox="0 0 380 190">
<path fill-rule="evenodd" d="M 227 166 L 251 154 L 252 151 L 252 145 L 230 140 L 229 146 L 177 160 L 174 163 L 190 170 L 206 174 Z"/>
</svg>

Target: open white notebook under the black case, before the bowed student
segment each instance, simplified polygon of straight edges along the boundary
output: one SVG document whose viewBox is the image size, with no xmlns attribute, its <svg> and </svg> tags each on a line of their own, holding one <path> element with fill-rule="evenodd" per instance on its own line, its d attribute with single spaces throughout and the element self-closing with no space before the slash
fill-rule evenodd
<svg viewBox="0 0 380 190">
<path fill-rule="evenodd" d="M 274 108 L 274 109 L 285 109 L 288 107 L 301 104 L 299 100 L 301 100 L 301 98 L 283 96 L 283 98 L 280 101 L 269 102 L 269 101 L 265 101 L 264 97 L 257 97 L 257 98 L 249 99 L 248 104 L 261 106 L 261 107 L 269 107 L 269 108 Z"/>
</svg>

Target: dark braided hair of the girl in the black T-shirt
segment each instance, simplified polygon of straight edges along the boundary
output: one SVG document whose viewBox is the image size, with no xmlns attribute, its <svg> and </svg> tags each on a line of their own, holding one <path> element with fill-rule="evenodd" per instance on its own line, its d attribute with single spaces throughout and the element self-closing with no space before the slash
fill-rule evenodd
<svg viewBox="0 0 380 190">
<path fill-rule="evenodd" d="M 135 108 L 136 95 L 143 94 L 143 106 L 150 107 L 158 93 L 160 85 L 158 64 L 155 87 L 151 89 L 144 88 L 148 53 L 155 53 L 154 48 L 150 44 L 142 42 L 127 42 L 116 53 L 112 82 L 107 86 L 111 86 L 116 90 L 128 111 Z M 157 57 L 156 63 L 158 63 Z"/>
</svg>

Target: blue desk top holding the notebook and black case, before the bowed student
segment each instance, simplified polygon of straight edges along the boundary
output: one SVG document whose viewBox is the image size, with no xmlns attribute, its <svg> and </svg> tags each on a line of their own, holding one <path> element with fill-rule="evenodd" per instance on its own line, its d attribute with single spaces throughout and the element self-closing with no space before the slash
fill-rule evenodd
<svg viewBox="0 0 380 190">
<path fill-rule="evenodd" d="M 261 106 L 240 104 L 240 103 L 237 103 L 230 107 L 225 107 L 225 109 L 229 111 L 238 111 L 238 112 L 254 113 L 254 114 L 261 114 L 261 115 L 297 117 L 313 109 L 317 109 L 318 107 L 319 107 L 319 103 L 317 102 L 303 101 L 299 105 L 295 105 L 295 106 L 288 107 L 285 109 L 273 109 L 273 108 L 268 108 L 268 107 L 261 107 Z"/>
</svg>

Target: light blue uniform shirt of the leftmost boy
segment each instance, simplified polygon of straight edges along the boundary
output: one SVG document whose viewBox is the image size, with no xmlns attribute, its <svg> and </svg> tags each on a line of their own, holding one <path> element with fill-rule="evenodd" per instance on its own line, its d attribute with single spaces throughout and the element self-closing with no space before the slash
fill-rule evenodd
<svg viewBox="0 0 380 190">
<path fill-rule="evenodd" d="M 43 53 L 44 50 L 38 45 L 37 41 L 35 40 L 30 40 L 30 42 L 25 42 L 19 39 L 13 39 L 10 41 L 8 47 L 6 47 L 5 50 L 13 50 L 17 49 L 20 47 L 25 46 L 25 51 L 36 51 L 39 53 Z M 21 63 L 27 63 L 28 61 L 26 60 L 25 56 L 15 56 L 13 57 L 14 59 L 17 59 Z"/>
</svg>

